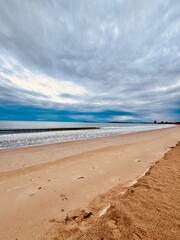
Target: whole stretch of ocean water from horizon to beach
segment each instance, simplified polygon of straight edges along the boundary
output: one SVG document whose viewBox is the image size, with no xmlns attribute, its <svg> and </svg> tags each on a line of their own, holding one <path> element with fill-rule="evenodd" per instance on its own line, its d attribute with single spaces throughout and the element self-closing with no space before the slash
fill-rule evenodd
<svg viewBox="0 0 180 240">
<path fill-rule="evenodd" d="M 0 149 L 35 146 L 75 140 L 86 140 L 104 136 L 117 136 L 132 132 L 173 127 L 168 124 L 126 124 L 126 123 L 70 123 L 70 122 L 17 122 L 0 121 L 0 130 L 88 128 L 99 129 L 41 131 L 41 132 L 0 132 Z"/>
</svg>

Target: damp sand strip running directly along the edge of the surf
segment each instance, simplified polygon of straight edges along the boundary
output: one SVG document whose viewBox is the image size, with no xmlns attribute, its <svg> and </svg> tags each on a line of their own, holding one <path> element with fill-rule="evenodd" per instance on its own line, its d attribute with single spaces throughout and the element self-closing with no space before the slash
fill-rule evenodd
<svg viewBox="0 0 180 240">
<path fill-rule="evenodd" d="M 174 129 L 177 128 L 179 129 L 179 126 L 173 126 L 169 128 L 161 128 L 161 129 L 153 129 L 153 130 L 145 130 L 145 131 L 139 131 L 139 132 L 131 132 L 131 133 L 123 133 L 120 135 L 115 135 L 115 136 L 103 136 L 103 137 L 97 137 L 97 138 L 91 138 L 91 139 L 86 139 L 86 140 L 74 140 L 74 141 L 66 141 L 66 142 L 58 142 L 58 143 L 49 143 L 49 144 L 40 144 L 40 145 L 32 145 L 32 146 L 23 146 L 23 147 L 17 147 L 17 148 L 6 148 L 6 149 L 0 149 L 0 159 L 3 159 L 5 161 L 5 165 L 0 161 L 0 174 L 4 172 L 11 172 L 11 171 L 16 171 L 16 170 L 25 170 L 28 167 L 33 167 L 36 165 L 48 165 L 50 162 L 55 162 L 59 161 L 60 159 L 68 158 L 70 156 L 82 153 L 82 151 L 72 151 L 70 154 L 57 154 L 58 156 L 55 158 L 49 157 L 44 160 L 44 155 L 42 154 L 42 158 L 38 158 L 38 161 L 31 161 L 31 156 L 28 158 L 28 161 L 24 163 L 22 162 L 17 162 L 16 159 L 19 158 L 25 158 L 27 157 L 26 154 L 29 154 L 30 152 L 33 152 L 33 154 L 39 154 L 42 153 L 42 151 L 46 151 L 49 149 L 52 149 L 52 152 L 55 151 L 57 152 L 57 149 L 61 148 L 63 151 L 65 150 L 67 152 L 67 148 L 69 145 L 73 147 L 78 147 L 80 148 L 81 145 L 87 145 L 87 148 L 84 150 L 86 151 L 91 151 L 96 149 L 96 144 L 98 144 L 99 147 L 107 147 L 111 146 L 113 144 L 119 144 L 116 143 L 116 140 L 122 139 L 122 144 L 123 144 L 123 139 L 126 137 L 130 138 L 132 137 L 138 137 L 141 134 L 148 134 L 148 133 L 156 133 L 156 132 L 161 132 L 164 130 L 168 129 Z M 114 141 L 115 140 L 115 141 Z M 112 144 L 111 144 L 112 141 Z M 136 141 L 136 140 L 135 140 Z M 100 144 L 100 146 L 99 146 Z M 90 145 L 90 146 L 89 146 Z M 93 145 L 93 146 L 92 146 Z M 64 149 L 65 148 L 65 149 Z M 7 157 L 8 155 L 8 157 Z M 26 156 L 25 156 L 26 155 Z M 32 154 L 30 154 L 32 155 Z M 51 159 L 52 158 L 52 159 Z"/>
</svg>

